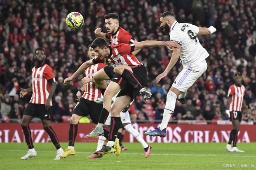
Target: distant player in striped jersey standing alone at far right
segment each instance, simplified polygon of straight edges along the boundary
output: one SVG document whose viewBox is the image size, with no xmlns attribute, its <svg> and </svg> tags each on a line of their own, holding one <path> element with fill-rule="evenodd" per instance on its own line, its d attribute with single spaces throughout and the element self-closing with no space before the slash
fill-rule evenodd
<svg viewBox="0 0 256 170">
<path fill-rule="evenodd" d="M 236 72 L 233 77 L 235 84 L 232 84 L 228 89 L 228 100 L 226 106 L 229 108 L 226 110 L 226 116 L 230 118 L 230 121 L 232 121 L 233 129 L 230 132 L 226 150 L 229 152 L 244 152 L 243 150 L 237 149 L 236 142 L 238 138 L 240 122 L 242 120 L 242 106 L 247 111 L 246 102 L 243 100 L 245 95 L 245 88 L 242 85 L 242 75 L 240 72 Z M 233 147 L 231 148 L 232 141 Z"/>
</svg>

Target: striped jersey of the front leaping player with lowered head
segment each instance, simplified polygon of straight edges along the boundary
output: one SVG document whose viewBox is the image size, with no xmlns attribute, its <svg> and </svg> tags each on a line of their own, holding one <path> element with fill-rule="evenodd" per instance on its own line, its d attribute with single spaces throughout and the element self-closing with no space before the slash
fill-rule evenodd
<svg viewBox="0 0 256 170">
<path fill-rule="evenodd" d="M 142 65 L 135 55 L 132 54 L 132 51 L 134 51 L 134 44 L 121 43 L 119 45 L 109 45 L 109 49 L 110 55 L 108 57 L 105 57 L 102 60 L 99 57 L 95 57 L 92 62 L 94 64 L 104 63 L 110 67 L 118 65 Z"/>
</svg>

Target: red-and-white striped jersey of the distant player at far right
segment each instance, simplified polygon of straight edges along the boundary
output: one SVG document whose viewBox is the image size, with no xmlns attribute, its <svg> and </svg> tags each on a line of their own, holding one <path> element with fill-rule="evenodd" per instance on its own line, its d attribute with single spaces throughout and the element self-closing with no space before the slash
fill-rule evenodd
<svg viewBox="0 0 256 170">
<path fill-rule="evenodd" d="M 242 85 L 241 87 L 232 84 L 228 89 L 228 97 L 231 96 L 231 101 L 229 104 L 229 111 L 241 111 L 243 98 L 245 95 L 245 88 Z"/>
</svg>

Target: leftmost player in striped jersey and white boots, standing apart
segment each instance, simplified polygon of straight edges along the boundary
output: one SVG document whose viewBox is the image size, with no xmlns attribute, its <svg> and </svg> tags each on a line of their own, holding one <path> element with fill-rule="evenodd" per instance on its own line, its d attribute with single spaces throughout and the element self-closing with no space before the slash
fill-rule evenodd
<svg viewBox="0 0 256 170">
<path fill-rule="evenodd" d="M 21 159 L 28 159 L 36 157 L 37 155 L 36 150 L 34 149 L 29 123 L 34 117 L 40 117 L 44 130 L 48 133 L 52 143 L 57 149 L 57 155 L 54 160 L 59 160 L 60 154 L 64 153 L 64 151 L 60 147 L 57 135 L 52 129 L 50 121 L 52 96 L 56 90 L 55 76 L 52 68 L 44 63 L 44 49 L 36 49 L 34 59 L 36 60 L 36 66 L 32 69 L 32 87 L 23 89 L 20 92 L 21 98 L 32 92 L 31 100 L 24 111 L 21 122 L 26 143 L 28 145 L 28 153 L 21 157 Z"/>
</svg>

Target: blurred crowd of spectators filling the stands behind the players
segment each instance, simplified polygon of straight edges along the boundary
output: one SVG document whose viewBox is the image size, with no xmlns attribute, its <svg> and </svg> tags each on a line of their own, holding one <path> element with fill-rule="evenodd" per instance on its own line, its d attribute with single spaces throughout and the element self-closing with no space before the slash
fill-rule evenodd
<svg viewBox="0 0 256 170">
<path fill-rule="evenodd" d="M 62 121 L 76 105 L 75 95 L 82 86 L 83 75 L 71 85 L 64 78 L 88 60 L 87 46 L 96 38 L 94 30 L 104 27 L 104 15 L 116 13 L 120 25 L 138 41 L 168 41 L 160 29 L 159 16 L 170 10 L 178 22 L 199 27 L 213 25 L 217 32 L 198 36 L 210 54 L 207 71 L 188 90 L 187 104 L 177 105 L 175 120 L 226 120 L 228 88 L 234 83 L 232 75 L 239 71 L 246 87 L 244 99 L 249 113 L 243 121 L 256 123 L 256 3 L 254 0 L 0 0 L 0 118 L 21 118 L 30 96 L 19 98 L 22 88 L 32 86 L 33 53 L 43 47 L 46 64 L 54 69 L 57 89 L 53 98 L 54 121 Z M 84 16 L 81 29 L 72 30 L 65 23 L 69 12 Z M 168 77 L 155 83 L 166 68 L 171 51 L 164 47 L 145 48 L 137 58 L 148 68 L 146 88 L 153 94 L 145 102 L 138 96 L 134 102 L 140 120 L 162 119 L 166 94 L 182 70 L 177 63 Z"/>
</svg>

